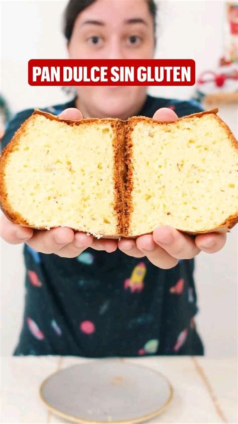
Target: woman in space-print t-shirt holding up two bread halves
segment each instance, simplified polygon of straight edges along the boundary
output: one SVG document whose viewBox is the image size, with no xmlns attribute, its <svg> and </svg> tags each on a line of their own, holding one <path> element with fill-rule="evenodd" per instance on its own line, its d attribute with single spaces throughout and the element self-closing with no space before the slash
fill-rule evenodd
<svg viewBox="0 0 238 424">
<path fill-rule="evenodd" d="M 69 57 L 152 58 L 155 21 L 153 0 L 110 0 L 109 7 L 108 0 L 70 0 L 64 26 Z M 147 96 L 146 87 L 77 87 L 73 101 L 45 110 L 70 119 L 145 115 L 166 121 L 201 107 Z M 4 145 L 31 113 L 10 122 Z M 221 249 L 224 234 L 192 238 L 160 226 L 137 240 L 96 240 L 69 228 L 23 228 L 6 217 L 2 230 L 9 243 L 26 243 L 25 313 L 15 355 L 203 355 L 193 319 L 193 258 Z"/>
</svg>

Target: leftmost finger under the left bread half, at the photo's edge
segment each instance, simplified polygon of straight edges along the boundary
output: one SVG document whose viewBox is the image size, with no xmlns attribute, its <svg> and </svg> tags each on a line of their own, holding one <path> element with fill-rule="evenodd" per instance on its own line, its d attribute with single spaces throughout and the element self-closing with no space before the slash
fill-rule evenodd
<svg viewBox="0 0 238 424">
<path fill-rule="evenodd" d="M 22 227 L 21 225 L 14 224 L 2 214 L 1 217 L 1 237 L 7 243 L 20 244 L 29 240 L 33 235 L 32 228 Z"/>
</svg>

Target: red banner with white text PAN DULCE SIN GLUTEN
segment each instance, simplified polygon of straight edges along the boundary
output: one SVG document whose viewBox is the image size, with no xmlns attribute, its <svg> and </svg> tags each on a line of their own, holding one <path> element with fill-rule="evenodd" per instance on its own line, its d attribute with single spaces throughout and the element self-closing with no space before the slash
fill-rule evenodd
<svg viewBox="0 0 238 424">
<path fill-rule="evenodd" d="M 193 59 L 31 59 L 31 86 L 193 86 Z"/>
</svg>

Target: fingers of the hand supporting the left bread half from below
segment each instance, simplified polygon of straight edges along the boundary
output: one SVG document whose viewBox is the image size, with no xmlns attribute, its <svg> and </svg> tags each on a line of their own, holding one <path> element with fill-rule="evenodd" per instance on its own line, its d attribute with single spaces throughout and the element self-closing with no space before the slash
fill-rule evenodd
<svg viewBox="0 0 238 424">
<path fill-rule="evenodd" d="M 40 253 L 54 253 L 64 258 L 74 258 L 88 247 L 95 250 L 114 252 L 117 240 L 95 239 L 86 233 L 75 232 L 71 228 L 57 227 L 51 230 L 33 230 L 14 224 L 2 214 L 1 237 L 10 244 L 27 243 Z"/>
</svg>

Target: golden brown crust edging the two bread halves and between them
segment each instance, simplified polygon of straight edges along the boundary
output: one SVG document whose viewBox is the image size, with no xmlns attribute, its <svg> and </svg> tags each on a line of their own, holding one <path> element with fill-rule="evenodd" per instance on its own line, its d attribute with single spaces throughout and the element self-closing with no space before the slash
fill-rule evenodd
<svg viewBox="0 0 238 424">
<path fill-rule="evenodd" d="M 201 117 L 205 114 L 214 114 L 216 116 L 216 119 L 219 121 L 219 124 L 225 129 L 227 136 L 230 139 L 231 144 L 233 147 L 238 150 L 238 143 L 232 134 L 229 127 L 222 121 L 220 117 L 216 115 L 218 112 L 218 109 L 212 109 L 209 111 L 194 113 L 192 115 L 184 116 L 182 118 L 179 118 L 179 120 L 185 120 L 196 117 Z M 1 157 L 1 169 L 0 169 L 0 200 L 1 200 L 1 206 L 3 213 L 7 216 L 7 218 L 12 221 L 13 223 L 20 224 L 25 227 L 31 227 L 31 226 L 19 213 L 13 210 L 11 204 L 8 202 L 8 196 L 7 196 L 7 189 L 5 187 L 5 166 L 7 164 L 8 155 L 11 154 L 15 149 L 18 148 L 18 143 L 21 137 L 21 134 L 25 131 L 25 127 L 29 120 L 32 120 L 34 115 L 43 115 L 48 119 L 51 120 L 57 120 L 65 122 L 69 125 L 80 125 L 85 123 L 92 123 L 92 122 L 98 122 L 99 119 L 97 118 L 88 118 L 88 119 L 80 119 L 78 121 L 73 121 L 70 119 L 59 119 L 57 116 L 52 115 L 51 113 L 42 112 L 40 110 L 35 110 L 32 116 L 30 116 L 16 131 L 12 141 L 5 147 L 5 149 L 2 152 Z M 103 118 L 100 119 L 100 122 L 104 122 L 105 124 L 111 124 L 116 128 L 117 131 L 117 140 L 113 140 L 113 147 L 114 147 L 114 164 L 116 166 L 114 167 L 114 181 L 115 181 L 115 210 L 117 212 L 118 216 L 123 216 L 121 218 L 121 222 L 118 219 L 117 229 L 118 229 L 118 235 L 102 235 L 102 238 L 111 238 L 111 239 L 118 239 L 120 237 L 129 237 L 129 238 L 137 238 L 138 236 L 130 236 L 129 234 L 129 228 L 130 228 L 130 216 L 132 213 L 132 199 L 131 199 L 131 193 L 133 190 L 133 164 L 131 161 L 131 149 L 132 149 L 132 140 L 131 140 L 131 134 L 133 131 L 133 125 L 136 122 L 139 121 L 147 121 L 150 122 L 152 125 L 158 124 L 158 121 L 153 120 L 152 118 L 144 117 L 144 116 L 133 116 L 129 118 L 127 121 L 122 121 L 120 119 L 113 119 L 113 118 Z M 173 121 L 169 122 L 163 122 L 163 124 L 169 124 Z M 126 190 L 125 190 L 126 188 Z M 190 235 L 198 235 L 198 234 L 205 234 L 209 232 L 227 232 L 229 231 L 234 225 L 238 222 L 238 211 L 236 214 L 228 217 L 223 223 L 221 223 L 217 228 L 215 229 L 207 229 L 206 231 L 201 232 L 189 232 L 189 231 L 182 231 L 183 233 L 187 233 Z M 36 228 L 38 230 L 45 230 L 45 228 Z M 80 231 L 79 229 L 74 229 L 75 231 Z M 151 232 L 152 233 L 152 232 Z M 151 234 L 149 233 L 149 234 Z"/>
</svg>

